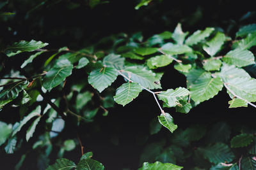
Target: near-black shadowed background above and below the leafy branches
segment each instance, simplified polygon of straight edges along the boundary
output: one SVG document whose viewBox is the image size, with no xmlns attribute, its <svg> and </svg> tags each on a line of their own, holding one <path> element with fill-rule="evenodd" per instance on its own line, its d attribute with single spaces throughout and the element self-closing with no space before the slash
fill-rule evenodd
<svg viewBox="0 0 256 170">
<path fill-rule="evenodd" d="M 184 31 L 220 27 L 234 37 L 240 25 L 255 22 L 255 15 L 246 20 L 239 20 L 248 11 L 254 10 L 250 1 L 164 0 L 160 3 L 154 0 L 140 10 L 134 10 L 138 1 L 131 0 L 109 1 L 93 9 L 83 0 L 63 0 L 55 3 L 45 1 L 45 4 L 38 5 L 40 3 L 42 1 L 10 1 L 2 9 L 16 14 L 0 23 L 1 44 L 10 44 L 20 39 L 35 39 L 49 43 L 48 49 L 68 46 L 78 50 L 96 43 L 104 36 L 119 32 L 131 34 L 140 31 L 145 38 L 163 31 L 172 32 L 178 22 L 182 24 Z M 78 6 L 74 8 L 74 4 Z M 20 66 L 22 60 L 15 59 L 12 64 Z M 165 67 L 164 73 L 161 80 L 163 89 L 186 87 L 186 78 L 173 69 L 173 66 Z M 118 87 L 121 81 L 116 81 L 113 86 Z M 165 111 L 172 114 L 179 128 L 193 124 L 209 125 L 221 120 L 234 126 L 253 126 L 255 109 L 250 106 L 228 109 L 228 100 L 229 97 L 223 89 L 214 99 L 193 108 L 187 115 L 175 113 L 173 109 Z M 108 117 L 99 115 L 93 124 L 84 125 L 77 131 L 85 151 L 92 151 L 93 158 L 102 162 L 107 170 L 124 167 L 136 169 L 145 146 L 143 141 L 148 139 L 146 143 L 150 143 L 170 135 L 168 130 L 162 129 L 159 134 L 149 136 L 148 124 L 156 115 L 159 115 L 159 110 L 154 97 L 143 91 L 134 102 L 125 107 L 116 105 L 109 110 Z M 67 125 L 60 135 L 67 139 L 76 138 L 76 132 L 71 129 Z M 32 142 L 33 140 L 14 155 L 6 156 L 1 153 L 1 169 L 12 169 L 19 161 L 20 155 L 31 147 Z M 64 156 L 77 162 L 81 156 L 79 147 Z M 36 169 L 36 157 L 32 153 L 28 157 L 23 169 Z M 52 156 L 51 164 L 55 159 L 56 157 Z"/>
</svg>

